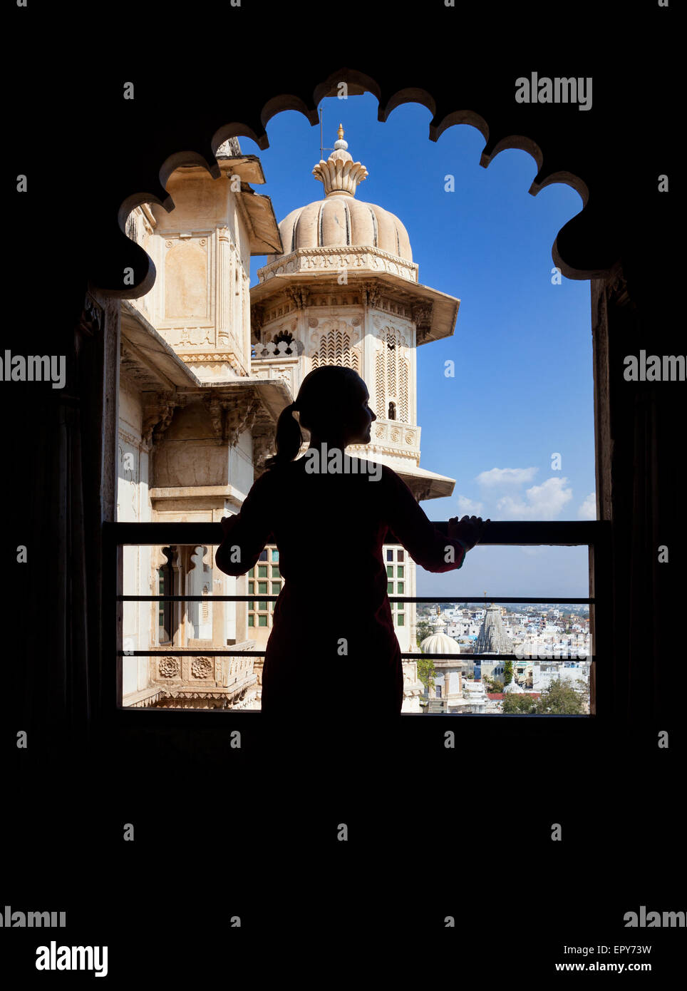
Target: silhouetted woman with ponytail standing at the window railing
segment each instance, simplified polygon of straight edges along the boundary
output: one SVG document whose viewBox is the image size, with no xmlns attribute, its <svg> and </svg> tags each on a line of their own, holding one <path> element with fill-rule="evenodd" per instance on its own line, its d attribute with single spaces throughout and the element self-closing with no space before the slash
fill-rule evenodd
<svg viewBox="0 0 687 991">
<path fill-rule="evenodd" d="M 398 716 L 403 666 L 382 559 L 387 529 L 417 564 L 445 572 L 462 565 L 484 526 L 453 517 L 444 536 L 395 472 L 344 455 L 347 444 L 370 442 L 368 399 L 351 369 L 306 376 L 279 416 L 275 457 L 241 512 L 222 520 L 216 562 L 226 574 L 244 575 L 268 541 L 279 549 L 284 585 L 265 648 L 265 716 L 325 726 Z M 311 434 L 297 460 L 303 436 L 294 410 Z"/>
</svg>

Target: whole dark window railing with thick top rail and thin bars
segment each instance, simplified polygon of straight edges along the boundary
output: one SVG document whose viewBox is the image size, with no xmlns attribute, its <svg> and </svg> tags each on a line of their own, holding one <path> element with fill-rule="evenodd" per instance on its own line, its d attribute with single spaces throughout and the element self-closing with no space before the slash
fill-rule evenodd
<svg viewBox="0 0 687 991">
<path fill-rule="evenodd" d="M 447 522 L 433 524 L 442 532 L 446 532 Z M 586 598 L 544 598 L 541 597 L 494 597 L 494 596 L 389 596 L 391 603 L 530 603 L 545 602 L 551 605 L 584 605 L 589 606 L 589 631 L 593 653 L 590 657 L 590 716 L 601 715 L 610 709 L 611 686 L 606 677 L 608 665 L 597 671 L 597 658 L 607 657 L 611 649 L 610 628 L 610 522 L 603 520 L 589 521 L 551 521 L 551 522 L 499 522 L 492 521 L 486 527 L 480 540 L 480 546 L 587 546 L 589 549 L 589 592 Z M 206 649 L 195 648 L 160 648 L 149 650 L 123 649 L 123 611 L 127 602 L 276 602 L 278 596 L 245 594 L 241 596 L 125 596 L 122 593 L 124 578 L 125 546 L 172 546 L 219 545 L 224 540 L 224 531 L 220 523 L 104 523 L 104 602 L 105 637 L 108 633 L 114 645 L 116 663 L 107 664 L 106 672 L 116 672 L 114 686 L 109 681 L 108 693 L 114 688 L 115 709 L 121 710 L 123 689 L 123 657 L 264 657 L 263 650 Z M 398 544 L 391 531 L 387 531 L 383 544 Z M 266 545 L 275 544 L 270 534 Z M 601 606 L 600 613 L 597 609 Z M 600 616 L 603 619 L 600 621 Z M 401 657 L 410 659 L 424 656 L 417 652 L 402 652 Z M 454 659 L 455 654 L 432 654 L 436 660 Z M 471 660 L 493 660 L 498 656 L 501 660 L 522 660 L 516 654 L 469 654 Z M 107 675 L 106 675 L 107 678 Z M 109 697 L 112 700 L 112 696 Z M 111 703 L 106 701 L 105 708 L 110 709 Z M 147 712 L 148 710 L 139 710 Z M 172 712 L 173 710 L 167 710 Z M 231 712 L 226 710 L 225 712 Z"/>
</svg>

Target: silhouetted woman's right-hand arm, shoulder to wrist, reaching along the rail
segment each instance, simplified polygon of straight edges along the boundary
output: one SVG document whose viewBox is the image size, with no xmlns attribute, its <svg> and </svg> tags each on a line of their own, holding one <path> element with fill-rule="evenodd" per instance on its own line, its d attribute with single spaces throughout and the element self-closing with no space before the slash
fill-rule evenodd
<svg viewBox="0 0 687 991">
<path fill-rule="evenodd" d="M 472 544 L 438 530 L 403 479 L 386 465 L 382 466 L 382 486 L 389 528 L 416 564 L 436 573 L 460 568 Z"/>
</svg>

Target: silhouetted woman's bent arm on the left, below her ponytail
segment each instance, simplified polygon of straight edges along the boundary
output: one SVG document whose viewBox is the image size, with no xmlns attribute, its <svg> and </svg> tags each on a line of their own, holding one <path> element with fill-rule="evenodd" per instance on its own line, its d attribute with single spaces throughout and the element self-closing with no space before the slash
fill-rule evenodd
<svg viewBox="0 0 687 991">
<path fill-rule="evenodd" d="M 225 536 L 215 552 L 215 564 L 225 575 L 245 575 L 270 536 L 269 472 L 264 472 L 245 496 L 241 512 L 221 520 Z"/>
</svg>

